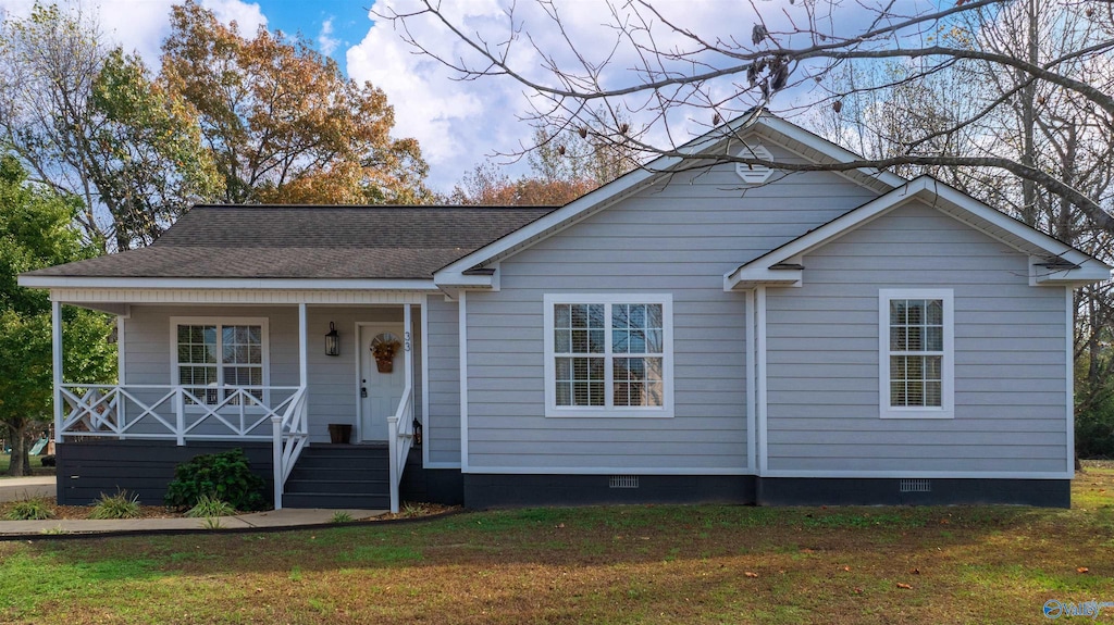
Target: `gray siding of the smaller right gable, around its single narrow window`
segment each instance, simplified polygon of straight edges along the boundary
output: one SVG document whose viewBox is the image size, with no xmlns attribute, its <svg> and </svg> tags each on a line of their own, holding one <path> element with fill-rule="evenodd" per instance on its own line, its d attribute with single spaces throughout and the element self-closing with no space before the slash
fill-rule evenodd
<svg viewBox="0 0 1114 625">
<path fill-rule="evenodd" d="M 1024 255 L 912 204 L 803 264 L 768 290 L 771 470 L 1066 469 L 1065 295 L 1028 286 Z M 883 288 L 954 289 L 954 419 L 879 417 Z"/>
</svg>

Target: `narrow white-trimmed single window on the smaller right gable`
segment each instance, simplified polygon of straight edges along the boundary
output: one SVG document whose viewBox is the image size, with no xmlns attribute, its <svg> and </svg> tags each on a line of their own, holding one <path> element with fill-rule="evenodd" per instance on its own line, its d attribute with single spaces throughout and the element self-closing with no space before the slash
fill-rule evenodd
<svg viewBox="0 0 1114 625">
<path fill-rule="evenodd" d="M 882 418 L 955 416 L 950 289 L 879 292 Z"/>
</svg>

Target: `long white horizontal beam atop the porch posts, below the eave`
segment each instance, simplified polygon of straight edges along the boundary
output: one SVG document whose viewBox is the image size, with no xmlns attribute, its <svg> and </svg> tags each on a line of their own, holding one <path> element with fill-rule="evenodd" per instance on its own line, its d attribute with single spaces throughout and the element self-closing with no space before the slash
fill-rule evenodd
<svg viewBox="0 0 1114 625">
<path fill-rule="evenodd" d="M 378 290 L 221 290 L 55 288 L 52 300 L 98 308 L 98 304 L 245 304 L 245 305 L 399 305 L 418 304 L 419 291 Z"/>
</svg>

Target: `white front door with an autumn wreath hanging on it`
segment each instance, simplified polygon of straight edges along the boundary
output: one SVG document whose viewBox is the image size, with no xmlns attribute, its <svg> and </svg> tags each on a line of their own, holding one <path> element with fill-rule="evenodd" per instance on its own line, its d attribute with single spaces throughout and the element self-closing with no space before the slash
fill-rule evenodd
<svg viewBox="0 0 1114 625">
<path fill-rule="evenodd" d="M 394 414 L 405 390 L 407 353 L 402 324 L 360 326 L 360 437 L 387 440 L 387 417 Z M 390 371 L 382 371 L 372 349 L 379 344 L 397 343 Z"/>
</svg>

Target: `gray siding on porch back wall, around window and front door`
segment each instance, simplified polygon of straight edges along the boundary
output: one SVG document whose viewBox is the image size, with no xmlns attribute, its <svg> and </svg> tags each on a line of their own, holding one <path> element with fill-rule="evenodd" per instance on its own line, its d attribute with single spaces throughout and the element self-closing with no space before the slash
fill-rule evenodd
<svg viewBox="0 0 1114 625">
<path fill-rule="evenodd" d="M 268 330 L 268 370 L 271 386 L 297 386 L 299 336 L 297 307 L 224 306 L 133 306 L 125 319 L 125 381 L 127 385 L 169 385 L 177 381 L 172 371 L 170 317 L 251 317 L 266 318 Z M 307 374 L 311 443 L 329 442 L 329 424 L 356 420 L 356 323 L 401 321 L 402 307 L 309 307 Z M 340 356 L 325 356 L 324 335 L 332 321 L 341 340 Z M 421 414 L 420 309 L 412 309 L 414 337 L 414 410 Z M 150 393 L 141 394 L 152 400 Z M 275 398 L 272 398 L 272 404 Z M 173 406 L 167 405 L 167 410 Z M 270 426 L 268 426 L 270 427 Z M 270 430 L 267 430 L 268 433 Z M 257 434 L 266 434 L 258 431 Z"/>
</svg>

